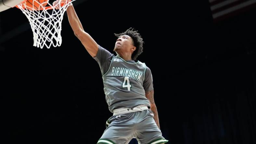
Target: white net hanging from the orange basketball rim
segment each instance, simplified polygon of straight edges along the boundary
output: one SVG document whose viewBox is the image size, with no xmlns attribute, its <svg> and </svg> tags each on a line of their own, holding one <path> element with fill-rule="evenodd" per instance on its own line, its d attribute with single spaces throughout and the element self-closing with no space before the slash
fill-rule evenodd
<svg viewBox="0 0 256 144">
<path fill-rule="evenodd" d="M 46 46 L 49 49 L 51 45 L 54 47 L 61 45 L 61 22 L 65 11 L 68 6 L 72 5 L 71 2 L 73 1 L 66 1 L 63 4 L 59 1 L 56 6 L 52 6 L 48 3 L 48 0 L 41 4 L 37 0 L 33 0 L 33 7 L 36 4 L 40 5 L 40 10 L 32 10 L 31 6 L 26 6 L 26 2 L 17 6 L 29 19 L 33 31 L 33 46 L 40 47 L 41 49 Z M 45 7 L 46 3 L 49 6 Z M 60 8 L 55 9 L 57 6 Z"/>
</svg>

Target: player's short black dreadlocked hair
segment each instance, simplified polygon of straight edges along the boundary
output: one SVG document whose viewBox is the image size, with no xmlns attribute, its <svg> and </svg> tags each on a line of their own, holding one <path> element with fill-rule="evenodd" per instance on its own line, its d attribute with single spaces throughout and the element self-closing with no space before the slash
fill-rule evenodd
<svg viewBox="0 0 256 144">
<path fill-rule="evenodd" d="M 133 39 L 133 45 L 136 47 L 136 50 L 132 54 L 132 60 L 136 60 L 136 58 L 143 52 L 143 39 L 141 38 L 141 35 L 138 33 L 138 30 L 135 30 L 134 28 L 129 28 L 123 33 L 116 34 L 115 36 L 120 37 L 122 35 L 128 35 Z"/>
</svg>

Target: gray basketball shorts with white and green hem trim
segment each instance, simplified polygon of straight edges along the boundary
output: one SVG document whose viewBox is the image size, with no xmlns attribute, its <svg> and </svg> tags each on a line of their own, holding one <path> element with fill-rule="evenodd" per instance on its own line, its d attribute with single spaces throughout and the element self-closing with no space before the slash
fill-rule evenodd
<svg viewBox="0 0 256 144">
<path fill-rule="evenodd" d="M 162 137 L 151 110 L 113 115 L 97 144 L 128 144 L 136 138 L 139 144 L 161 144 L 168 140 Z"/>
</svg>

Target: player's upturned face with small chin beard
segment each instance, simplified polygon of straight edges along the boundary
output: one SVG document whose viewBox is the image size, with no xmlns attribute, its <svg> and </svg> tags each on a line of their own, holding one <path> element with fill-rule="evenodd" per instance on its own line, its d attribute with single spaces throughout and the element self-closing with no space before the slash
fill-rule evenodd
<svg viewBox="0 0 256 144">
<path fill-rule="evenodd" d="M 128 35 L 122 35 L 116 41 L 114 52 L 130 52 L 132 47 L 134 47 L 133 39 Z"/>
</svg>

